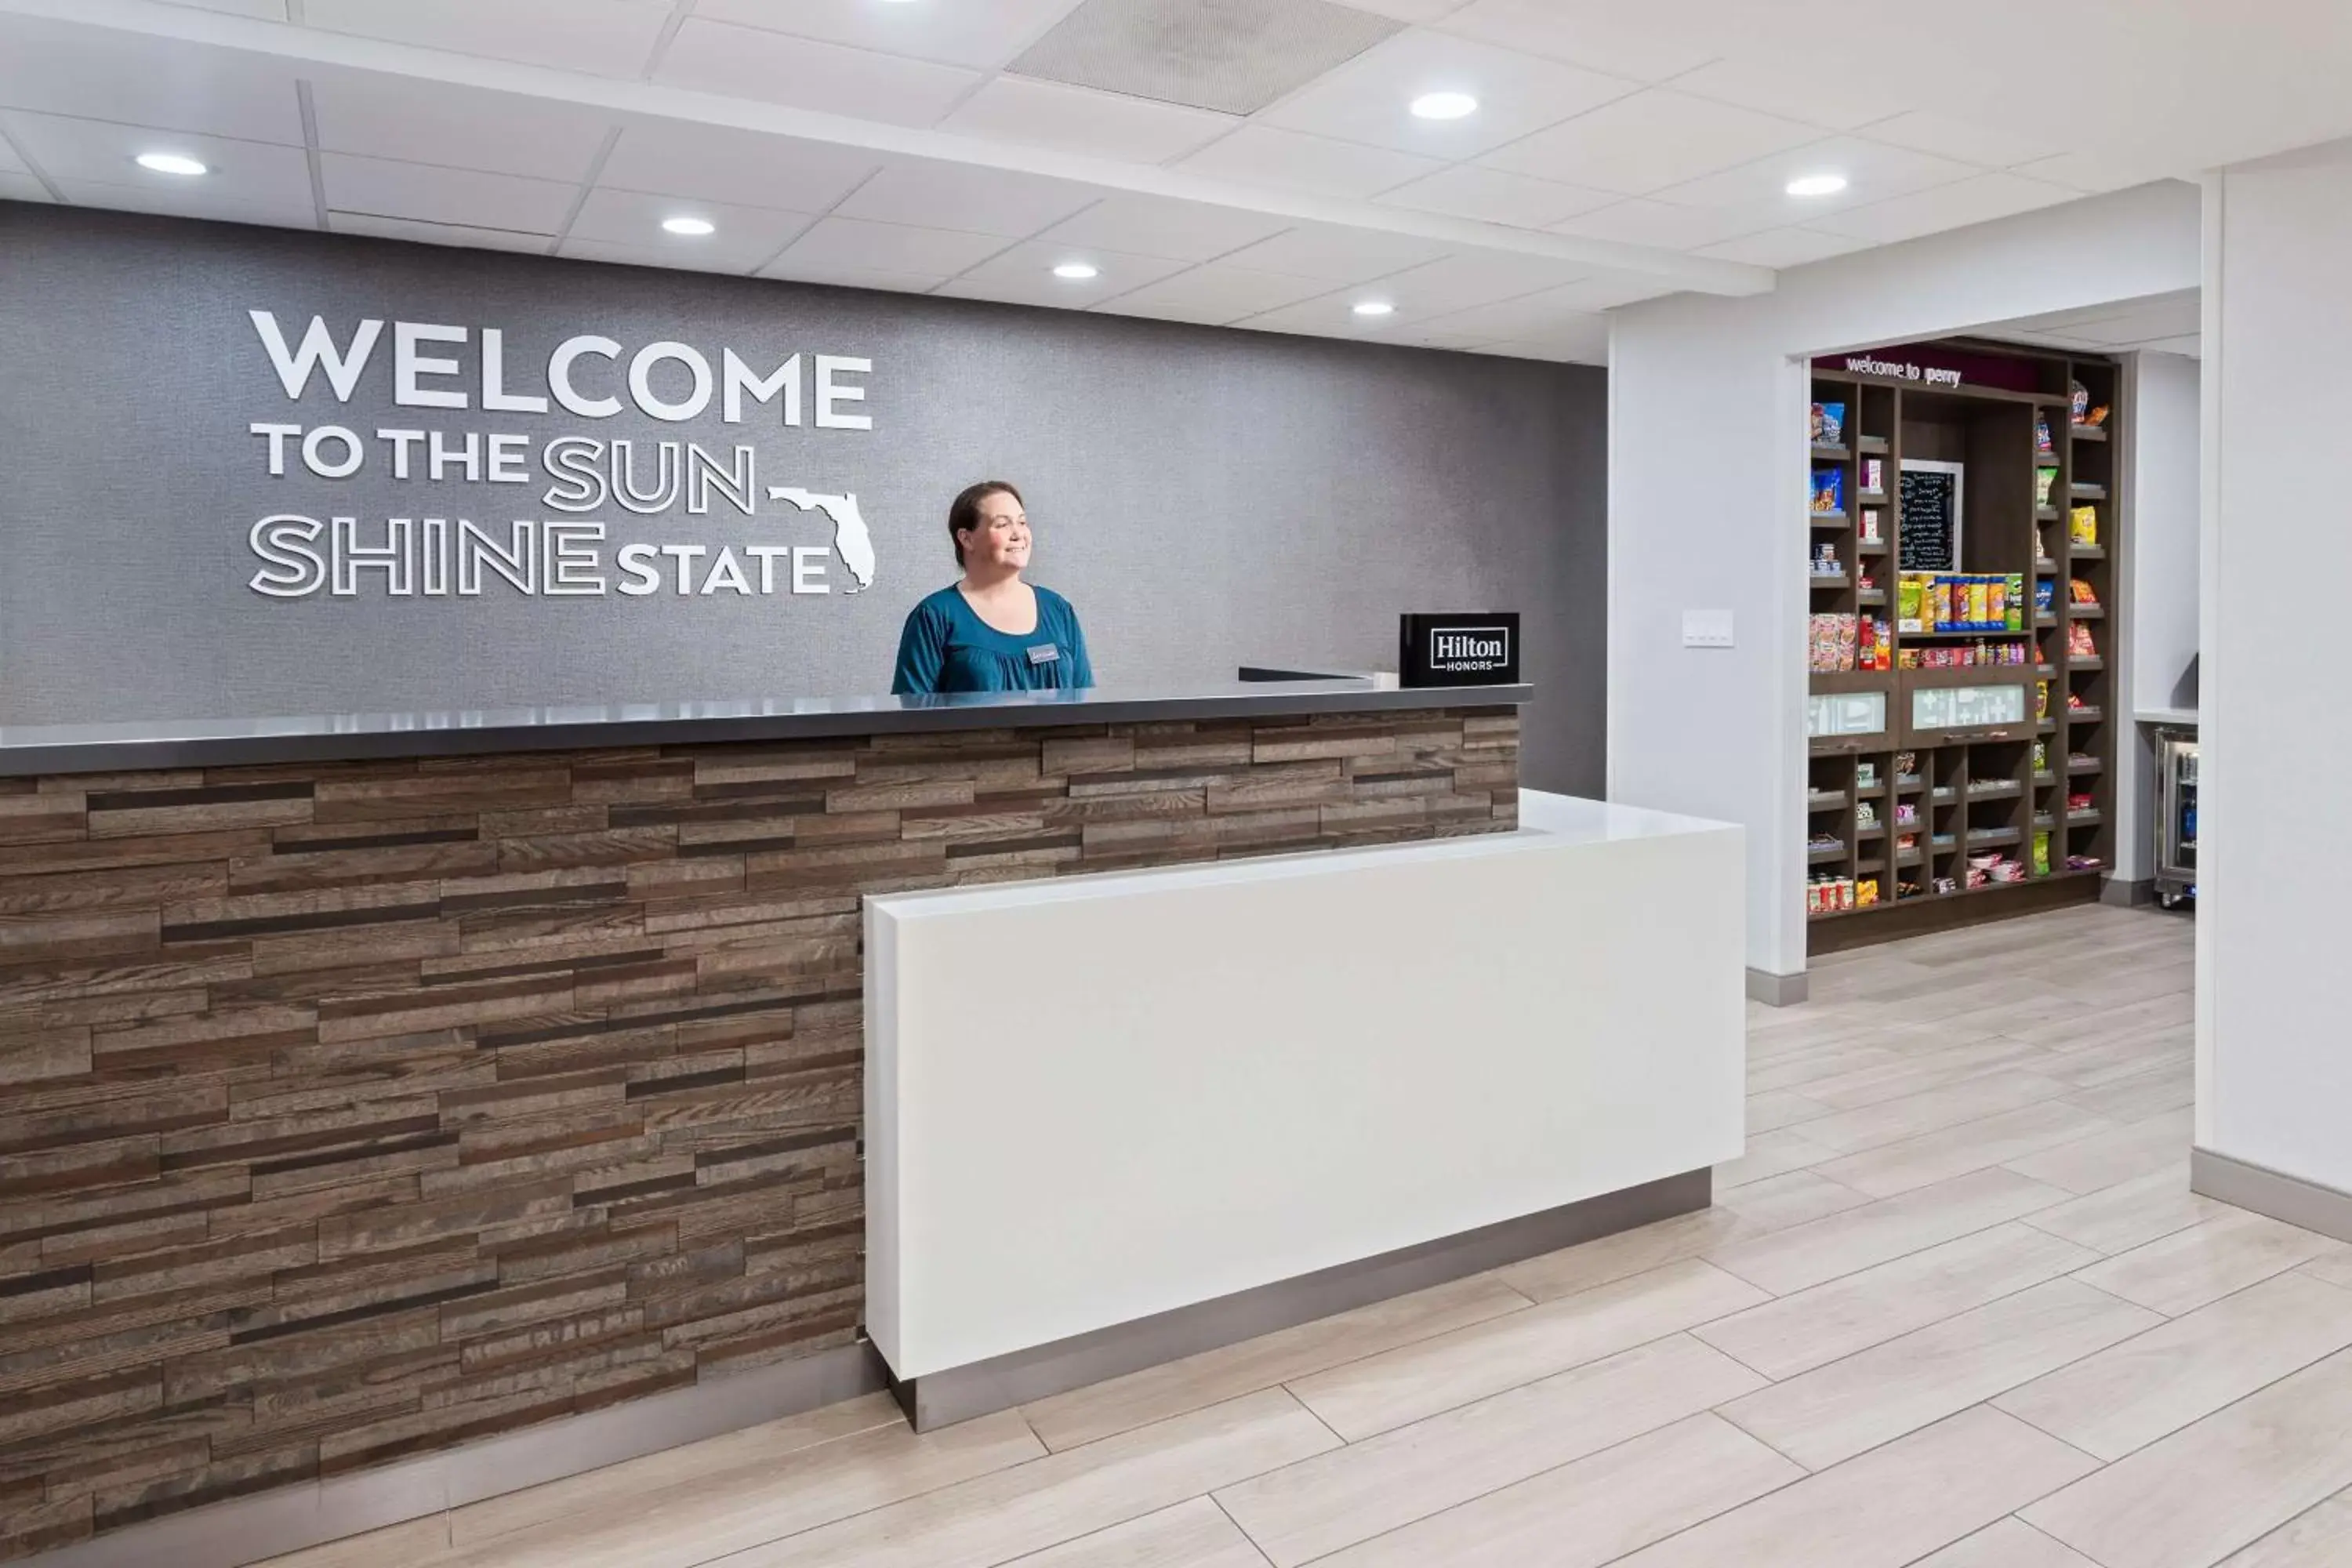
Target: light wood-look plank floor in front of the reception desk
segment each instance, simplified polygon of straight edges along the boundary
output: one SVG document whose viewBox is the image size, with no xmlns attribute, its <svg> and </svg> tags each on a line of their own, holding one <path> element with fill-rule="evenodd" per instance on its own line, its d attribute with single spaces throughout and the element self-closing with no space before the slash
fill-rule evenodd
<svg viewBox="0 0 2352 1568">
<path fill-rule="evenodd" d="M 2190 1194 L 2187 922 L 1828 959 L 1750 1011 L 1750 1084 L 1705 1213 L 946 1432 L 863 1399 L 275 1568 L 2352 1563 L 2352 1248 Z"/>
</svg>

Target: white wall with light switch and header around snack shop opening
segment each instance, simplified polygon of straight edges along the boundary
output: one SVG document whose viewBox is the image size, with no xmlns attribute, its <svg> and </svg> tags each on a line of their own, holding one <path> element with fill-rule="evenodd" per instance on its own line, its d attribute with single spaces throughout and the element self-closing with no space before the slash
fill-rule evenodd
<svg viewBox="0 0 2352 1568">
<path fill-rule="evenodd" d="M 1616 315 L 1609 799 L 1748 827 L 1748 964 L 1804 969 L 1804 357 L 2187 289 L 2197 190 L 2140 186 Z M 1684 649 L 1729 609 L 1733 649 Z"/>
</svg>

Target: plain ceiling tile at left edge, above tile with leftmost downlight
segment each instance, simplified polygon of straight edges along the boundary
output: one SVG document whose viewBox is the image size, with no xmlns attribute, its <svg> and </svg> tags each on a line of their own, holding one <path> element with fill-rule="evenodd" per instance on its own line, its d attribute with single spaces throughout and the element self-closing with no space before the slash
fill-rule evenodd
<svg viewBox="0 0 2352 1568">
<path fill-rule="evenodd" d="M 0 103 L 301 146 L 301 103 L 285 61 L 35 16 L 7 19 Z"/>
</svg>

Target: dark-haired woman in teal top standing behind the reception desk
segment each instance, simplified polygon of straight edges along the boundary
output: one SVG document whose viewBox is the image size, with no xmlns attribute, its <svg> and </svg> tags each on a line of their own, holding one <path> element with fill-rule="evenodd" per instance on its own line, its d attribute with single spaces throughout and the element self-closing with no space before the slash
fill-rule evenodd
<svg viewBox="0 0 2352 1568">
<path fill-rule="evenodd" d="M 1021 491 L 1004 480 L 969 487 L 948 508 L 948 538 L 964 576 L 908 614 L 891 691 L 1091 686 L 1077 611 L 1051 588 L 1021 581 L 1030 555 Z"/>
</svg>

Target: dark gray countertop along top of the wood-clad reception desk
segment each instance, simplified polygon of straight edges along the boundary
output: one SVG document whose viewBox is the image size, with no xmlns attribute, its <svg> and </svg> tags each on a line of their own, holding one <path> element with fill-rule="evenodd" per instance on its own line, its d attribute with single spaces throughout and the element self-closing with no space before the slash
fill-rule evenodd
<svg viewBox="0 0 2352 1568">
<path fill-rule="evenodd" d="M 1073 701 L 1075 698 L 1075 701 Z M 856 705 L 757 712 L 750 703 L 680 703 L 677 712 L 628 717 L 595 708 L 506 708 L 473 715 L 353 715 L 198 724 L 0 726 L 0 778 L 28 773 L 136 773 L 266 766 L 287 762 L 386 762 L 496 752 L 713 745 L 729 741 L 830 741 L 988 729 L 1174 724 L 1312 712 L 1515 708 L 1534 686 L 1371 686 L 1367 682 L 1261 682 L 1195 696 L 1056 693 L 1037 701 L 953 705 Z M 694 710 L 708 712 L 694 712 Z M 734 712 L 729 712 L 734 710 Z M 336 729 L 341 724 L 341 729 Z"/>
</svg>

